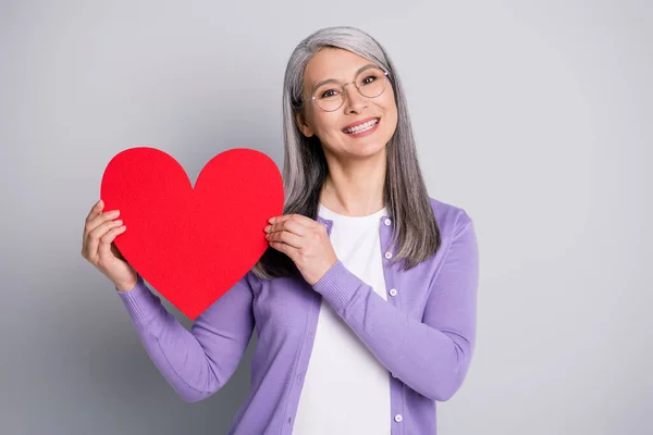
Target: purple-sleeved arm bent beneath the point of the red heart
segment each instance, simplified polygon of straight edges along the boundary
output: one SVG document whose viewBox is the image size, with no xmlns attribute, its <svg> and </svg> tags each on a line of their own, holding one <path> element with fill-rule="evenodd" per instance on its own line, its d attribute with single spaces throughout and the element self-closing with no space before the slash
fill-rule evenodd
<svg viewBox="0 0 653 435">
<path fill-rule="evenodd" d="M 118 294 L 150 359 L 184 401 L 209 397 L 238 366 L 254 328 L 247 276 L 205 310 L 190 331 L 140 276 L 133 289 Z"/>
</svg>

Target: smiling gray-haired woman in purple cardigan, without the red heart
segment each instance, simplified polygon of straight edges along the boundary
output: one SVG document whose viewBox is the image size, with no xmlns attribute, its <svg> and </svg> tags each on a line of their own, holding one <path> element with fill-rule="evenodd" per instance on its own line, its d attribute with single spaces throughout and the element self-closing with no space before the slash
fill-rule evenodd
<svg viewBox="0 0 653 435">
<path fill-rule="evenodd" d="M 366 33 L 303 40 L 283 111 L 286 198 L 270 248 L 189 332 L 115 250 L 125 229 L 101 201 L 83 254 L 186 401 L 227 382 L 256 327 L 230 434 L 433 434 L 435 401 L 459 388 L 475 347 L 472 221 L 428 196 L 396 70 Z"/>
</svg>

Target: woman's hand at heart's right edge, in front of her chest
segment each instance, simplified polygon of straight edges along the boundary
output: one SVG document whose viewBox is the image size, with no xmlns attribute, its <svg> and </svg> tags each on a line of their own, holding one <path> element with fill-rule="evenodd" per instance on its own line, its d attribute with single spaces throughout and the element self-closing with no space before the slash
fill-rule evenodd
<svg viewBox="0 0 653 435">
<path fill-rule="evenodd" d="M 266 238 L 270 246 L 288 256 L 311 286 L 336 263 L 324 225 L 301 214 L 275 216 L 269 222 Z"/>
</svg>

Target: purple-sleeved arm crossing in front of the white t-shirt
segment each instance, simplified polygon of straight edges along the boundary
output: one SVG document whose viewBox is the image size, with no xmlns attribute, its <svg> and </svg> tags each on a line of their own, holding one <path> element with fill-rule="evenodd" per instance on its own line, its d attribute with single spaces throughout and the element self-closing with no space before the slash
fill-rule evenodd
<svg viewBox="0 0 653 435">
<path fill-rule="evenodd" d="M 463 212 L 439 274 L 418 284 L 431 287 L 421 322 L 385 301 L 340 260 L 313 288 L 387 370 L 443 401 L 460 387 L 473 352 L 478 268 L 473 224 Z"/>
</svg>

